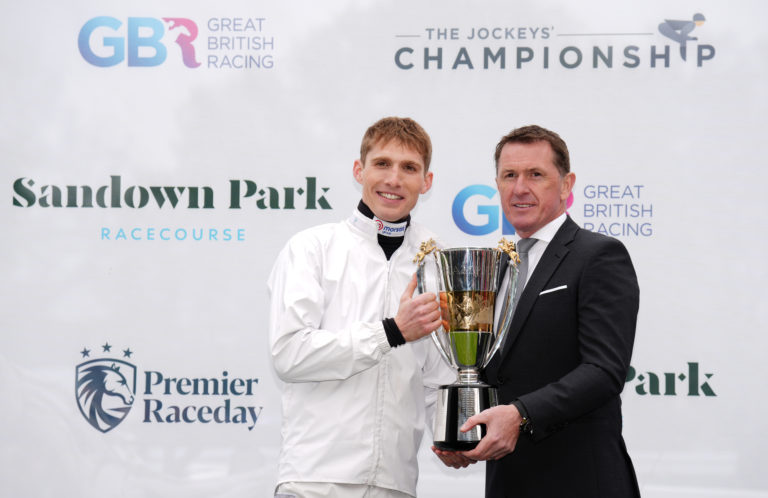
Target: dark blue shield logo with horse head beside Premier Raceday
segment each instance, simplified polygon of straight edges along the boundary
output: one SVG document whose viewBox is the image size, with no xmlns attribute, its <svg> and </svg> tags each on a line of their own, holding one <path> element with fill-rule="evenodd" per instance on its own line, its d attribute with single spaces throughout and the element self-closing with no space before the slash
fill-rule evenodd
<svg viewBox="0 0 768 498">
<path fill-rule="evenodd" d="M 75 396 L 83 417 L 101 432 L 117 427 L 133 406 L 136 367 L 102 358 L 79 364 L 75 374 Z"/>
</svg>

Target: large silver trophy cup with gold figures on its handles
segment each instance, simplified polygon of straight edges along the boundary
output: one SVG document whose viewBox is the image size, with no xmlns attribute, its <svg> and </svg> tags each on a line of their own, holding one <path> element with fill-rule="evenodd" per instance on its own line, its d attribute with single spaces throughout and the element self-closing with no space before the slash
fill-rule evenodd
<svg viewBox="0 0 768 498">
<path fill-rule="evenodd" d="M 440 302 L 442 326 L 432 332 L 432 339 L 459 373 L 456 383 L 438 390 L 434 443 L 443 450 L 471 450 L 485 435 L 485 426 L 467 432 L 459 427 L 499 402 L 496 388 L 479 376 L 501 347 L 512 321 L 520 260 L 515 245 L 502 239 L 498 249 L 437 249 L 429 240 L 415 261 L 419 293 L 433 292 Z"/>
</svg>

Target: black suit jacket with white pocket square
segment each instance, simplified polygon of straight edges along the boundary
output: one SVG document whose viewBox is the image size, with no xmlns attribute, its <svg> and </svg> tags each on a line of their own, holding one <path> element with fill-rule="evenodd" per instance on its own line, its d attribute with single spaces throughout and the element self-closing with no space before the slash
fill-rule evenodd
<svg viewBox="0 0 768 498">
<path fill-rule="evenodd" d="M 568 217 L 526 284 L 503 350 L 485 370 L 500 403 L 520 400 L 533 422 L 533 434 L 521 434 L 514 452 L 488 462 L 487 497 L 640 495 L 619 398 L 638 301 L 624 245 Z"/>
</svg>

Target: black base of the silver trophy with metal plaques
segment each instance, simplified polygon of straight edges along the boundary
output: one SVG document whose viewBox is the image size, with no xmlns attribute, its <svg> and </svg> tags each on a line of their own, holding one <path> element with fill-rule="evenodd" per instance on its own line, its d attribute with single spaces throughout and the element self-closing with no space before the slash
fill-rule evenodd
<svg viewBox="0 0 768 498">
<path fill-rule="evenodd" d="M 434 444 L 441 450 L 468 451 L 485 436 L 485 425 L 480 424 L 467 432 L 461 427 L 467 419 L 499 404 L 495 387 L 486 384 L 451 384 L 441 386 L 437 392 Z"/>
</svg>

